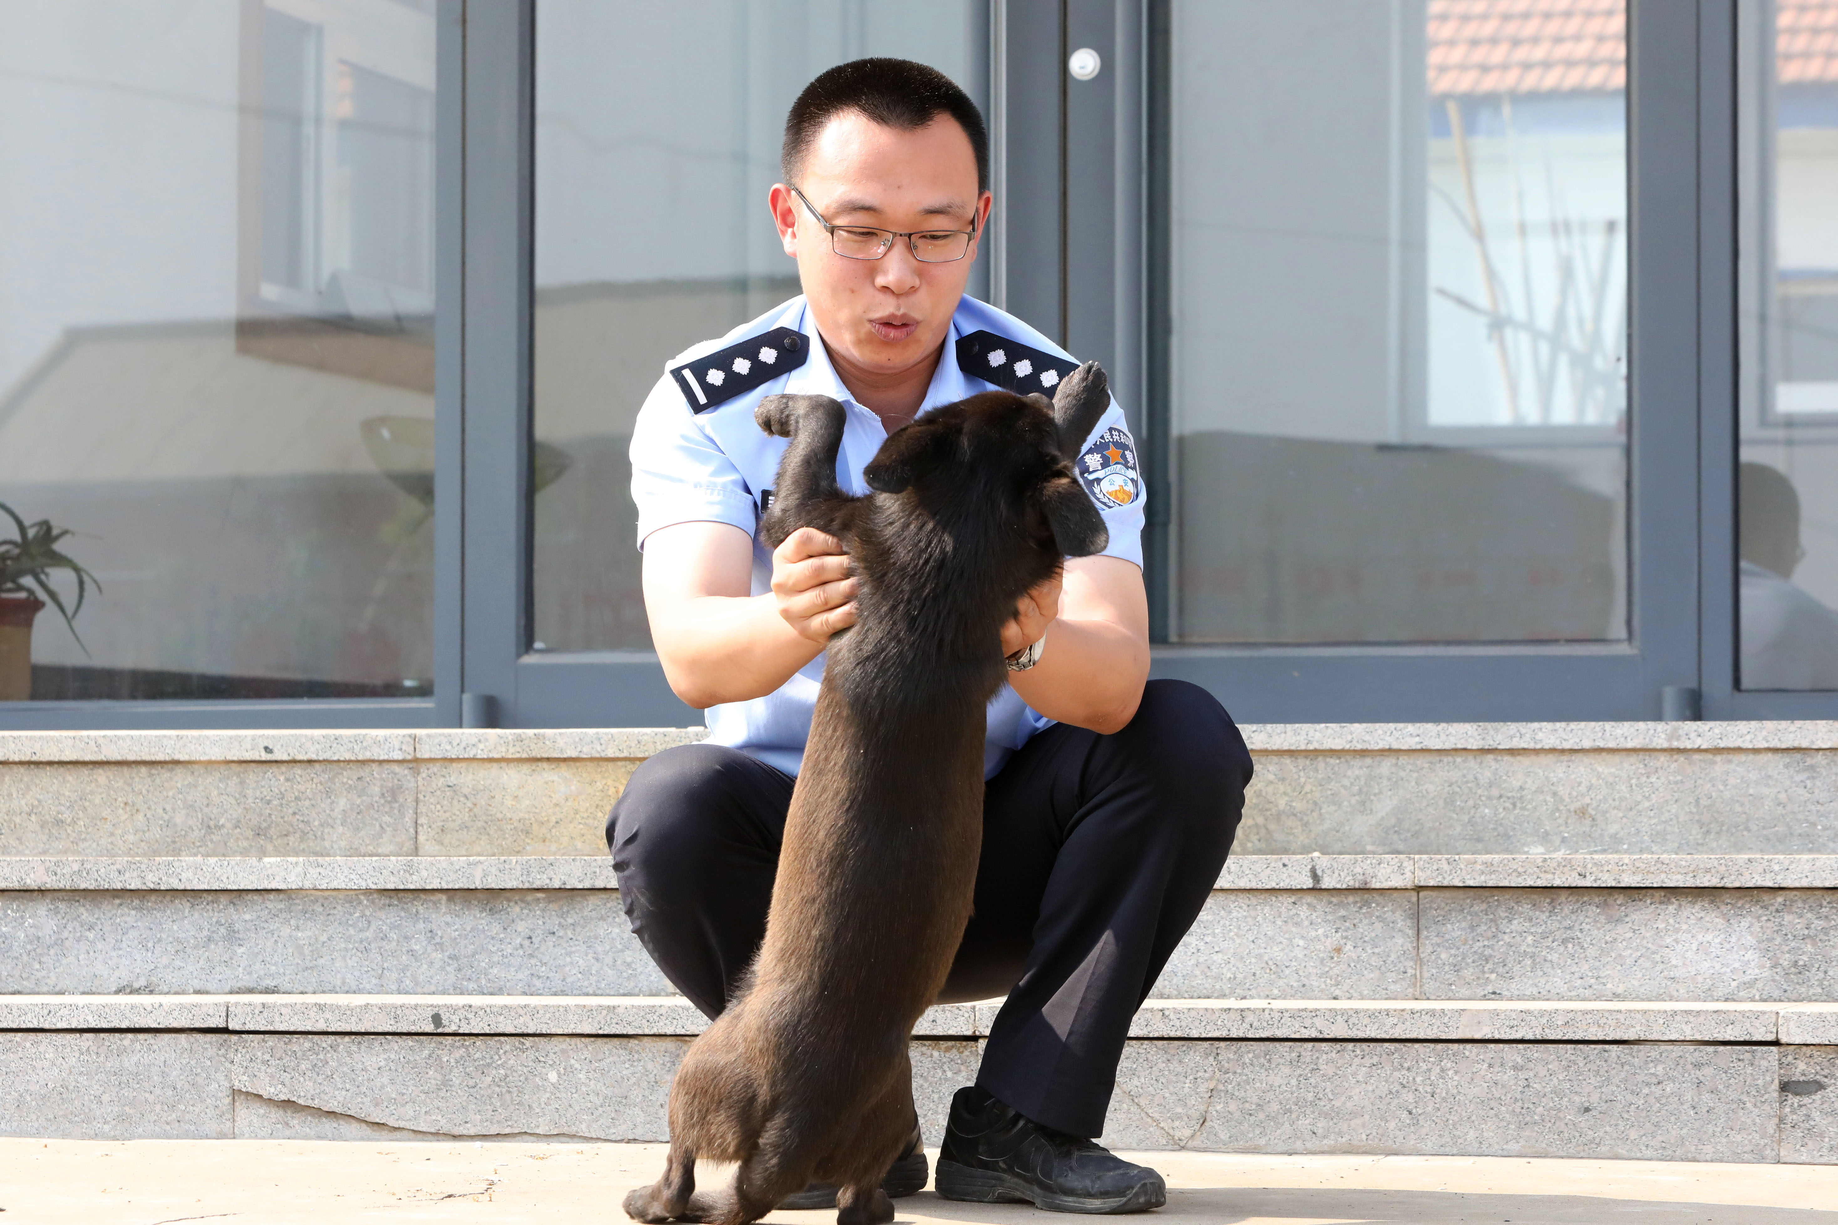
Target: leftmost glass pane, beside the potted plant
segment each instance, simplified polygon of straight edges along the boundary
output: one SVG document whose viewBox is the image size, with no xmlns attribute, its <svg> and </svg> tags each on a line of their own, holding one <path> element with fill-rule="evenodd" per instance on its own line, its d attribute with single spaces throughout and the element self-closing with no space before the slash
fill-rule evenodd
<svg viewBox="0 0 1838 1225">
<path fill-rule="evenodd" d="M 432 692 L 432 171 L 426 4 L 6 6 L 4 696 Z"/>
</svg>

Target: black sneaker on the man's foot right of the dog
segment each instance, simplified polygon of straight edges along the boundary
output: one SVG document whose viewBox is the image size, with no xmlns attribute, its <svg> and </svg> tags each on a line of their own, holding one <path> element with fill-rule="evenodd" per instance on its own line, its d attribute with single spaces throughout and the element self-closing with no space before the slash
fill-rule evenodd
<svg viewBox="0 0 1838 1225">
<path fill-rule="evenodd" d="M 983 1089 L 958 1089 L 937 1153 L 937 1194 L 1049 1212 L 1147 1212 L 1167 1183 L 1092 1141 L 1042 1128 Z"/>
</svg>

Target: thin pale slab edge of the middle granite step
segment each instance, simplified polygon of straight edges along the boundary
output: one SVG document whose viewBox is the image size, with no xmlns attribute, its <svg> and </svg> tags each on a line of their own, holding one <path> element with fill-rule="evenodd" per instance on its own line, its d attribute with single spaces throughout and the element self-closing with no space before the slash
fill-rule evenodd
<svg viewBox="0 0 1838 1225">
<path fill-rule="evenodd" d="M 608 856 L 0 856 L 0 891 L 616 887 Z M 1237 856 L 1215 889 L 1838 889 L 1838 854 Z"/>
</svg>

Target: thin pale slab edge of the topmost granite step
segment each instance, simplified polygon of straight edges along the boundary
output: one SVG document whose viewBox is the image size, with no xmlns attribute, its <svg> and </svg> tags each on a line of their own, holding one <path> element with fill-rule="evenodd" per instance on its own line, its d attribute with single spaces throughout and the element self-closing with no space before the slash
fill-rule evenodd
<svg viewBox="0 0 1838 1225">
<path fill-rule="evenodd" d="M 1590 753 L 1838 749 L 1838 720 L 1693 724 L 1246 724 L 1254 753 Z M 412 762 L 645 759 L 706 727 L 428 731 L 4 731 L 0 762 Z"/>
</svg>

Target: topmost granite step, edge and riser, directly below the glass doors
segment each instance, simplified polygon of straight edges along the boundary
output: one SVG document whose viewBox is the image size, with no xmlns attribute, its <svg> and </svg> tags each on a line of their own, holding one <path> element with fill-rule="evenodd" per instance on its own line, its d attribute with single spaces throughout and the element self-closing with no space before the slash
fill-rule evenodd
<svg viewBox="0 0 1838 1225">
<path fill-rule="evenodd" d="M 0 733 L 0 847 L 586 856 L 700 727 Z M 1272 724 L 1241 854 L 1823 854 L 1838 722 Z"/>
</svg>

